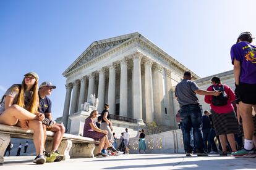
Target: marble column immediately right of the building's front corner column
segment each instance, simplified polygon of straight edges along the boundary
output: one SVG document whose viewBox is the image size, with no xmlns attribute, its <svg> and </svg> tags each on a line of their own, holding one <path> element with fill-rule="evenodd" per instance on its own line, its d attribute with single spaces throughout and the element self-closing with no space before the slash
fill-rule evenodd
<svg viewBox="0 0 256 170">
<path fill-rule="evenodd" d="M 150 59 L 145 62 L 145 112 L 147 123 L 153 122 L 154 120 L 152 64 L 153 61 Z"/>
</svg>

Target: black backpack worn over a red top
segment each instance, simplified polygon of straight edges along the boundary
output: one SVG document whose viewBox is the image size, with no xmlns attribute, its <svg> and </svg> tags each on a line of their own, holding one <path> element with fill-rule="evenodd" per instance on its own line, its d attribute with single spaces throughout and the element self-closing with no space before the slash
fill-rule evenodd
<svg viewBox="0 0 256 170">
<path fill-rule="evenodd" d="M 216 87 L 213 87 L 213 91 L 220 91 L 221 94 L 219 96 L 214 96 L 212 95 L 211 98 L 211 103 L 215 106 L 224 106 L 226 104 L 228 104 L 228 95 L 226 94 L 226 92 L 224 91 L 224 86 L 218 86 L 219 84 L 217 84 Z"/>
</svg>

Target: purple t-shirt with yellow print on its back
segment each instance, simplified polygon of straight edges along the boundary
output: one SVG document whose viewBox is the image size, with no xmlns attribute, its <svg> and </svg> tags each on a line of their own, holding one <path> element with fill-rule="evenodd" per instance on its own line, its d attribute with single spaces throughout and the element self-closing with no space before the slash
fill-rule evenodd
<svg viewBox="0 0 256 170">
<path fill-rule="evenodd" d="M 239 42 L 231 47 L 231 60 L 241 63 L 239 82 L 256 84 L 256 46 L 249 42 Z"/>
</svg>

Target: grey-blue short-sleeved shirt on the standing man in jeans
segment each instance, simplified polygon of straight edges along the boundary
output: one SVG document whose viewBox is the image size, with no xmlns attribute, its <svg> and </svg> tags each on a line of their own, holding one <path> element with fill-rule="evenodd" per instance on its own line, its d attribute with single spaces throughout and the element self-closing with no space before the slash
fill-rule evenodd
<svg viewBox="0 0 256 170">
<path fill-rule="evenodd" d="M 199 89 L 194 81 L 189 79 L 182 79 L 181 83 L 178 83 L 175 88 L 175 96 L 179 102 L 179 106 L 198 104 L 197 95 L 195 90 Z"/>
</svg>

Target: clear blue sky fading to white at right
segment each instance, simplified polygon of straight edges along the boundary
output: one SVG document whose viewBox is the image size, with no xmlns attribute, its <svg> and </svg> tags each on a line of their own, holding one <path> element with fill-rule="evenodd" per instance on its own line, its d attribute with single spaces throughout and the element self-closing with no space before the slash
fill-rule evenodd
<svg viewBox="0 0 256 170">
<path fill-rule="evenodd" d="M 138 31 L 198 76 L 233 68 L 229 50 L 242 31 L 256 36 L 256 1 L 0 1 L 0 96 L 28 71 L 56 84 L 53 116 L 62 116 L 62 76 L 93 41 Z"/>
</svg>

